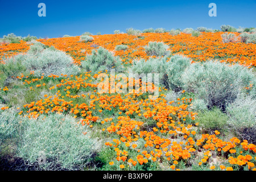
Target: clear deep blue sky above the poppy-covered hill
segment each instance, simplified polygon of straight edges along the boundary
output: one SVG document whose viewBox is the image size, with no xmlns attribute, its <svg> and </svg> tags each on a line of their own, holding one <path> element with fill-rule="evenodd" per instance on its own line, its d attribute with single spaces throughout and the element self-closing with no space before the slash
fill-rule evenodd
<svg viewBox="0 0 256 182">
<path fill-rule="evenodd" d="M 209 3 L 216 3 L 217 16 L 210 17 Z M 46 17 L 38 16 L 38 4 L 46 4 Z M 256 27 L 256 0 L 245 1 L 162 1 L 162 0 L 0 0 L 0 37 L 13 32 L 57 38 L 65 34 L 81 35 L 89 31 L 96 35 L 113 34 L 126 28 L 220 28 L 222 24 L 234 27 Z"/>
</svg>

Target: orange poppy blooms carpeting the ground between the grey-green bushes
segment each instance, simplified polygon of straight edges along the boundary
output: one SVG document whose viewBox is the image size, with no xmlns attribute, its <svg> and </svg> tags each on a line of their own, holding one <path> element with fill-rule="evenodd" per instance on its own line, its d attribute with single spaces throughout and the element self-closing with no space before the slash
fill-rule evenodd
<svg viewBox="0 0 256 182">
<path fill-rule="evenodd" d="M 194 95 L 188 90 L 179 90 L 179 96 L 171 100 L 170 90 L 162 85 L 155 88 L 159 91 L 156 99 L 142 92 L 99 93 L 97 76 L 101 72 L 81 68 L 86 56 L 98 47 L 112 52 L 121 59 L 123 67 L 130 68 L 136 60 L 156 57 L 145 51 L 144 46 L 149 42 L 163 42 L 171 52 L 167 60 L 183 55 L 191 64 L 217 60 L 242 65 L 254 72 L 256 44 L 223 43 L 222 34 L 224 32 L 201 32 L 199 36 L 183 32 L 179 35 L 168 32 L 91 35 L 93 40 L 88 42 L 81 41 L 80 36 L 38 39 L 37 42 L 47 48 L 52 46 L 71 56 L 80 72 L 35 76 L 30 71 L 12 77 L 14 81 L 8 84 L 3 81 L 5 77 L 1 77 L 1 112 L 14 110 L 18 118 L 28 118 L 31 122 L 51 114 L 71 116 L 84 129 L 84 137 L 89 135 L 101 146 L 91 156 L 87 169 L 256 171 L 255 143 L 229 132 L 204 130 L 198 121 L 200 111 L 193 108 Z M 0 64 L 5 65 L 6 60 L 15 55 L 26 55 L 33 44 L 35 42 L 0 43 Z M 118 45 L 127 49 L 116 51 Z M 102 72 L 109 75 L 109 71 Z M 115 85 L 121 80 L 114 79 Z M 135 84 L 136 81 L 133 86 Z"/>
</svg>

